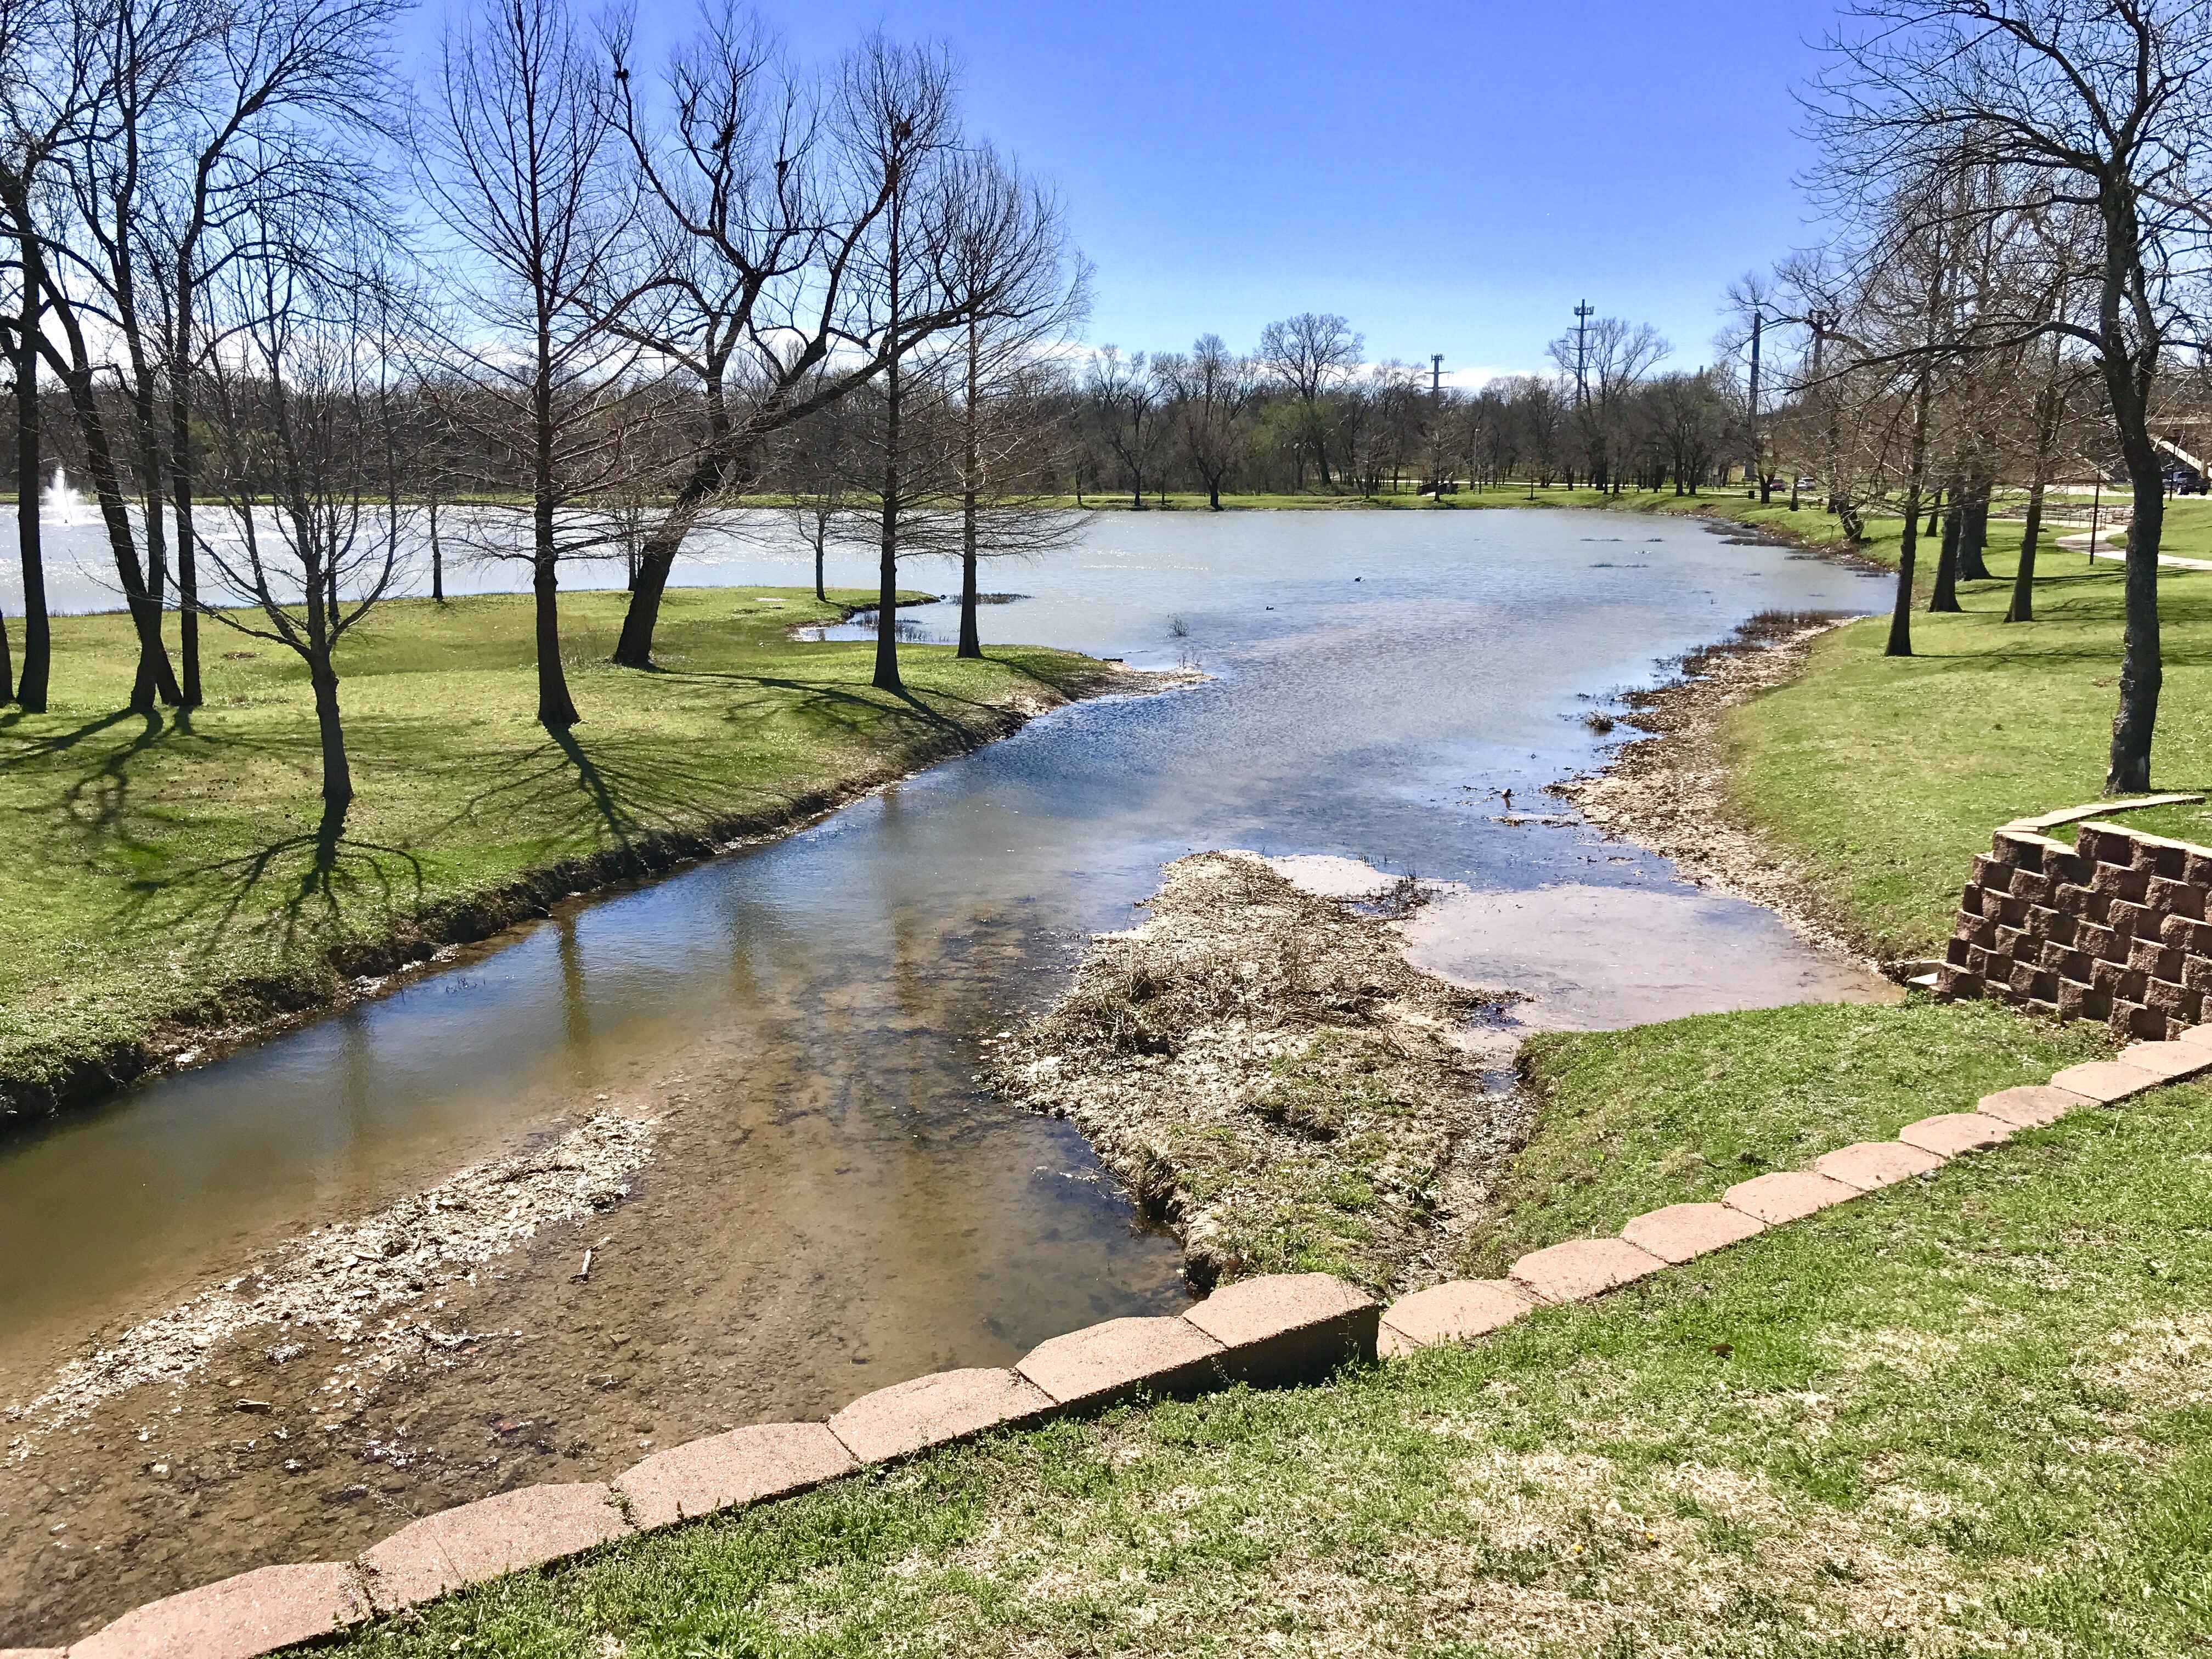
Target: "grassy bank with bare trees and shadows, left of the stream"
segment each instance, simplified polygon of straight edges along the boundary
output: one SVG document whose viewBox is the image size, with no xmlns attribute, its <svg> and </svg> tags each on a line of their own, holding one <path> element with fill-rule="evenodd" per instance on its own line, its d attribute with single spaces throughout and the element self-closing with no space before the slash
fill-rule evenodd
<svg viewBox="0 0 2212 1659">
<path fill-rule="evenodd" d="M 849 595 L 854 602 L 872 595 Z M 128 1073 L 190 1026 L 312 1006 L 440 938 L 768 832 L 1097 686 L 1053 650 L 799 644 L 805 591 L 668 595 L 661 672 L 606 664 L 622 593 L 562 599 L 584 723 L 531 719 L 522 595 L 398 599 L 341 650 L 358 799 L 323 847 L 299 659 L 208 628 L 204 708 L 128 714 L 128 624 L 58 617 L 46 714 L 0 714 L 0 1095 Z"/>
</svg>

